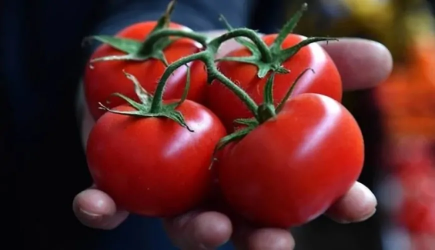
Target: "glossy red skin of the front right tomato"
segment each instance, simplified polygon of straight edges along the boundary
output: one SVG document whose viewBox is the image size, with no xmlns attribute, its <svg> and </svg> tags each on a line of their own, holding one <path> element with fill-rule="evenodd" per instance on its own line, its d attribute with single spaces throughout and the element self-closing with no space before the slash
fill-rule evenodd
<svg viewBox="0 0 435 250">
<path fill-rule="evenodd" d="M 304 93 L 225 147 L 219 183 L 228 204 L 260 226 L 289 227 L 314 219 L 358 178 L 361 131 L 337 101 Z"/>
</svg>

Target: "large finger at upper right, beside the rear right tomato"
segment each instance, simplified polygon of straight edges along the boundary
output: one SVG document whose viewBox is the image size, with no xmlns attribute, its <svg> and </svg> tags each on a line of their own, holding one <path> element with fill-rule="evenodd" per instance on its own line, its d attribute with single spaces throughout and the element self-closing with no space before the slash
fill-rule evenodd
<svg viewBox="0 0 435 250">
<path fill-rule="evenodd" d="M 345 90 L 373 87 L 391 73 L 391 53 L 379 42 L 339 38 L 321 44 L 335 62 Z"/>
</svg>

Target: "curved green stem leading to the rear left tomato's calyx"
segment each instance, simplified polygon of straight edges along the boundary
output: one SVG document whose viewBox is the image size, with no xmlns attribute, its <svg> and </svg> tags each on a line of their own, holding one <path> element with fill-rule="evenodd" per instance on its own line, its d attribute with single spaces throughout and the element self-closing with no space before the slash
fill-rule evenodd
<svg viewBox="0 0 435 250">
<path fill-rule="evenodd" d="M 155 44 L 160 38 L 167 36 L 186 37 L 201 43 L 203 47 L 207 46 L 207 37 L 202 34 L 193 31 L 164 28 L 152 32 L 151 34 L 149 34 L 149 36 L 146 37 L 146 39 L 143 41 L 142 45 L 139 48 L 139 54 L 146 54 L 148 50 L 153 48 L 153 44 Z"/>
</svg>

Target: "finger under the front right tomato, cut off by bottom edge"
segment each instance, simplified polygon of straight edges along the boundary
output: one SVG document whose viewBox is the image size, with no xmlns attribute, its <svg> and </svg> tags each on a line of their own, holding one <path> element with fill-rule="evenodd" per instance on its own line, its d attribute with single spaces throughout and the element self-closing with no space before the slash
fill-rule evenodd
<svg viewBox="0 0 435 250">
<path fill-rule="evenodd" d="M 280 228 L 253 228 L 238 225 L 232 240 L 237 249 L 281 250 L 293 249 L 294 239 L 288 230 Z"/>
</svg>

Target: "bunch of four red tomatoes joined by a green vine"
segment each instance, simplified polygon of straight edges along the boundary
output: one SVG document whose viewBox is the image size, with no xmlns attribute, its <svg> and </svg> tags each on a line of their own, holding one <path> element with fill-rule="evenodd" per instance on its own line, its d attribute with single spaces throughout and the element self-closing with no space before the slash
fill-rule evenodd
<svg viewBox="0 0 435 250">
<path fill-rule="evenodd" d="M 340 75 L 316 43 L 334 39 L 292 33 L 306 4 L 277 34 L 222 18 L 227 32 L 212 39 L 171 22 L 173 6 L 156 21 L 89 37 L 102 42 L 84 78 L 95 185 L 144 216 L 210 200 L 263 226 L 323 213 L 364 159 Z M 217 58 L 229 39 L 240 46 Z"/>
</svg>

